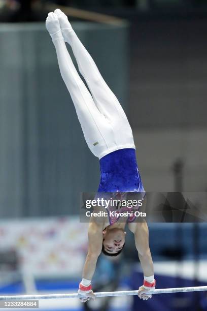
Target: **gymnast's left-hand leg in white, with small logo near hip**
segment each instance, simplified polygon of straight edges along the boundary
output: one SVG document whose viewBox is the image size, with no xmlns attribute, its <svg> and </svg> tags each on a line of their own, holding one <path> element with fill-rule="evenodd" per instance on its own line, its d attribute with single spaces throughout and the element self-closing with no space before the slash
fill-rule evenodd
<svg viewBox="0 0 207 311">
<path fill-rule="evenodd" d="M 76 71 L 54 13 L 48 14 L 46 27 L 54 43 L 60 73 L 74 102 L 85 140 L 93 154 L 99 157 L 100 153 L 110 147 L 108 137 L 113 134 L 112 129 L 97 109 L 90 92 Z"/>
</svg>

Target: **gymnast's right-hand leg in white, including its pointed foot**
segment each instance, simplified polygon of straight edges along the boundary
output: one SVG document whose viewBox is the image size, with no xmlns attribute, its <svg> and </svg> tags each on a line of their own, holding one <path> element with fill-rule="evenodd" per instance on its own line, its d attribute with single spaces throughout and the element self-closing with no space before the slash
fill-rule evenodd
<svg viewBox="0 0 207 311">
<path fill-rule="evenodd" d="M 98 110 L 113 127 L 116 144 L 134 147 L 132 131 L 118 99 L 103 80 L 92 57 L 78 39 L 66 15 L 59 9 L 55 10 L 55 14 L 58 16 L 64 40 L 72 47 L 79 71 L 88 84 Z"/>
</svg>

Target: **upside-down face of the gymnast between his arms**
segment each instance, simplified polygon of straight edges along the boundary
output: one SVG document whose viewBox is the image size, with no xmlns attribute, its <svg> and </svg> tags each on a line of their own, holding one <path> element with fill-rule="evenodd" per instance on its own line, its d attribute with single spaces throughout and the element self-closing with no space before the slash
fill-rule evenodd
<svg viewBox="0 0 207 311">
<path fill-rule="evenodd" d="M 125 243 L 125 234 L 126 232 L 119 228 L 103 230 L 103 246 L 105 251 L 111 254 L 118 253 Z"/>
</svg>

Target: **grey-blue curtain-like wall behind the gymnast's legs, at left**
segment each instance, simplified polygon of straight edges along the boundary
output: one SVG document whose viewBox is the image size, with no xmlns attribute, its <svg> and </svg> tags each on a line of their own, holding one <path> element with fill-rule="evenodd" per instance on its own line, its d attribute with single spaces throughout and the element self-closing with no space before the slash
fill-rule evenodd
<svg viewBox="0 0 207 311">
<path fill-rule="evenodd" d="M 126 107 L 127 26 L 74 23 L 102 76 Z M 0 26 L 0 214 L 72 214 L 96 191 L 89 151 L 43 23 Z"/>
</svg>

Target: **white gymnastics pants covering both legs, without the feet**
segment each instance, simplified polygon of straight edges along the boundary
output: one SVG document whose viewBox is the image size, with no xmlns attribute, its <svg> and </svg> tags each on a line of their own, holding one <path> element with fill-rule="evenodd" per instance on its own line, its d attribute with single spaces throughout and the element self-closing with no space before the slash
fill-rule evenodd
<svg viewBox="0 0 207 311">
<path fill-rule="evenodd" d="M 88 147 L 99 159 L 118 149 L 135 149 L 131 127 L 118 99 L 73 29 L 68 31 L 67 41 L 91 94 L 73 64 L 64 39 L 56 38 L 53 43 L 61 76 L 71 94 Z"/>
</svg>

